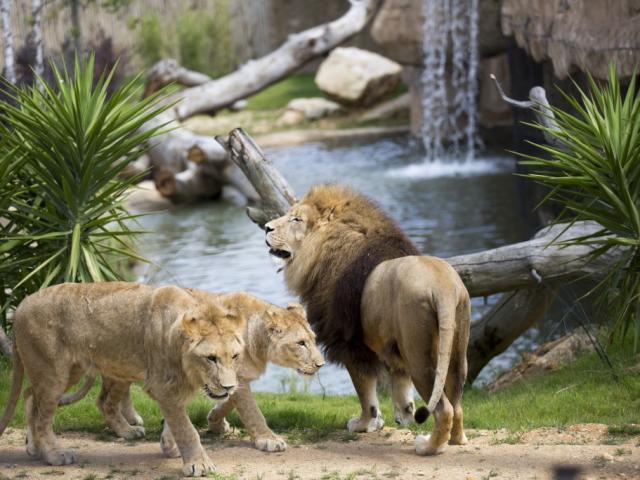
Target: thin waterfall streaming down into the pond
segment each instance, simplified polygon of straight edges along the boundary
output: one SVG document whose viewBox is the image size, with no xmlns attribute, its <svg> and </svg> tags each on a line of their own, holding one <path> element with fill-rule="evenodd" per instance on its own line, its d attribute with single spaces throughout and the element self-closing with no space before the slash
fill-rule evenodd
<svg viewBox="0 0 640 480">
<path fill-rule="evenodd" d="M 427 159 L 472 160 L 478 141 L 478 0 L 424 0 L 423 11 L 421 134 Z"/>
</svg>

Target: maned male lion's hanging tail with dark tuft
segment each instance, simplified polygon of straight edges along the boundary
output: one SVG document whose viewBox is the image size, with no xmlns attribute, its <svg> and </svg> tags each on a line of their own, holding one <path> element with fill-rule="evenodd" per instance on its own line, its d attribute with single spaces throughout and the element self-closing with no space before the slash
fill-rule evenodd
<svg viewBox="0 0 640 480">
<path fill-rule="evenodd" d="M 442 398 L 444 385 L 447 380 L 447 372 L 449 371 L 449 361 L 451 359 L 451 350 L 453 348 L 453 337 L 456 329 L 456 310 L 457 305 L 453 302 L 443 302 L 437 306 L 438 315 L 438 356 L 436 360 L 436 379 L 433 383 L 431 398 L 427 403 L 427 407 L 421 407 L 416 410 L 415 420 L 417 423 L 424 422 L 430 413 L 436 409 L 436 405 Z"/>
</svg>

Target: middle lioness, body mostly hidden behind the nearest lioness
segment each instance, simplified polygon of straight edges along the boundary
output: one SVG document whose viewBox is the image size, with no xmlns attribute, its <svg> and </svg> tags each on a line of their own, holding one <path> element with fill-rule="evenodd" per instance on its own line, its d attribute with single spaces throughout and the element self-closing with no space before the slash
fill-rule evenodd
<svg viewBox="0 0 640 480">
<path fill-rule="evenodd" d="M 315 374 L 324 365 L 324 358 L 316 347 L 315 334 L 299 304 L 280 308 L 246 293 L 222 295 L 220 299 L 228 308 L 242 311 L 248 322 L 244 356 L 238 370 L 238 388 L 209 412 L 209 430 L 228 432 L 230 427 L 225 417 L 237 408 L 256 448 L 266 452 L 284 451 L 287 444 L 268 427 L 251 395 L 250 383 L 264 373 L 267 362 L 295 368 L 304 375 Z M 174 456 L 178 452 L 173 436 L 167 423 L 164 427 L 160 440 L 162 450 L 166 455 Z"/>
</svg>

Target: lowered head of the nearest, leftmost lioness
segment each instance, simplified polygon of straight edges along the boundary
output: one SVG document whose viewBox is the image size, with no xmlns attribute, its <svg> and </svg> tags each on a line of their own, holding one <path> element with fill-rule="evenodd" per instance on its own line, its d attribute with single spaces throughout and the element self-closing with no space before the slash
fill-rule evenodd
<svg viewBox="0 0 640 480">
<path fill-rule="evenodd" d="M 213 399 L 228 397 L 237 386 L 245 325 L 243 316 L 229 312 L 213 299 L 201 299 L 180 321 L 186 339 L 183 369 L 192 385 L 202 385 Z"/>
</svg>

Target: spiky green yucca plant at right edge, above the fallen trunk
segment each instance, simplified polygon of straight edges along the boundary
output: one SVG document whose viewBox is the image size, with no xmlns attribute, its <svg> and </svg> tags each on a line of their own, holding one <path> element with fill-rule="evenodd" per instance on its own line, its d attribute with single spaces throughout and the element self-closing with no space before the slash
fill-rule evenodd
<svg viewBox="0 0 640 480">
<path fill-rule="evenodd" d="M 577 85 L 576 85 L 577 86 Z M 578 98 L 562 92 L 573 112 L 552 108 L 558 125 L 533 126 L 557 145 L 534 144 L 546 156 L 521 155 L 533 167 L 526 176 L 550 187 L 546 200 L 563 206 L 559 221 L 599 223 L 596 233 L 565 244 L 589 245 L 592 257 L 621 248 L 622 257 L 593 291 L 611 313 L 611 336 L 635 331 L 640 339 L 640 96 L 633 75 L 621 92 L 615 66 L 608 81 L 588 75 Z"/>
</svg>

